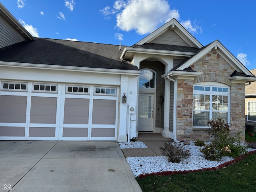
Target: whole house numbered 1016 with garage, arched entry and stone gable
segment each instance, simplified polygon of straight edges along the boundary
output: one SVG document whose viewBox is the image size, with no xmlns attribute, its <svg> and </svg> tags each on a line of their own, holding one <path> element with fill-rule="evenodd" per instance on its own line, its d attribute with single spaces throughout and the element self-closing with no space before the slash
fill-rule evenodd
<svg viewBox="0 0 256 192">
<path fill-rule="evenodd" d="M 202 46 L 175 19 L 124 47 L 34 38 L 0 4 L 0 140 L 207 140 L 219 116 L 244 130 L 254 81 L 218 40 Z"/>
</svg>

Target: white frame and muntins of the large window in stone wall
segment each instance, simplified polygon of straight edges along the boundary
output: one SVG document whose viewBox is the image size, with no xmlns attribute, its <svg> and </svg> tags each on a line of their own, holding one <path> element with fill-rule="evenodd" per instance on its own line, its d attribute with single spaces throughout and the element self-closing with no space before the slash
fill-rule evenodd
<svg viewBox="0 0 256 192">
<path fill-rule="evenodd" d="M 194 86 L 210 87 L 210 91 L 194 90 Z M 213 87 L 228 88 L 228 92 L 212 91 Z M 194 111 L 206 111 L 206 112 L 210 112 L 210 117 L 209 117 L 210 119 L 212 119 L 212 112 L 213 112 L 213 110 L 212 110 L 212 95 L 218 94 L 218 95 L 222 95 L 222 96 L 228 96 L 228 110 L 227 111 L 218 110 L 218 112 L 227 112 L 228 119 L 226 120 L 226 123 L 230 122 L 230 87 L 229 86 L 224 86 L 223 84 L 220 84 L 220 83 L 211 84 L 210 82 L 206 82 L 203 84 L 194 84 L 193 85 L 193 98 L 194 98 L 194 94 L 210 95 L 209 110 L 194 110 L 194 101 L 193 101 L 193 115 L 194 115 Z M 193 118 L 193 120 L 194 120 L 194 118 Z M 193 128 L 209 128 L 209 127 L 208 126 L 194 126 L 194 122 L 193 122 Z"/>
</svg>

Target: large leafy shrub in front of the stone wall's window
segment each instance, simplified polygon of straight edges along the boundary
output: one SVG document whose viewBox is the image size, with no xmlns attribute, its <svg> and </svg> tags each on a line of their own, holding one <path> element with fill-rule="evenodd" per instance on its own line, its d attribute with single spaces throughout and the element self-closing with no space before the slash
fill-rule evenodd
<svg viewBox="0 0 256 192">
<path fill-rule="evenodd" d="M 222 156 L 237 158 L 246 153 L 247 145 L 240 142 L 242 132 L 230 136 L 230 126 L 221 118 L 210 120 L 207 124 L 210 127 L 208 134 L 213 137 L 213 141 L 201 149 L 204 158 L 208 160 L 218 160 Z"/>
</svg>

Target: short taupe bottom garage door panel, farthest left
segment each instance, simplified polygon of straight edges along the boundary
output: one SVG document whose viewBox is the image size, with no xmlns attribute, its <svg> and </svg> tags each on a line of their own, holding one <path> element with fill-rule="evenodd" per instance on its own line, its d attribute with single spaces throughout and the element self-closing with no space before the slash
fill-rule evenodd
<svg viewBox="0 0 256 192">
<path fill-rule="evenodd" d="M 0 127 L 1 137 L 24 137 L 25 127 Z"/>
</svg>

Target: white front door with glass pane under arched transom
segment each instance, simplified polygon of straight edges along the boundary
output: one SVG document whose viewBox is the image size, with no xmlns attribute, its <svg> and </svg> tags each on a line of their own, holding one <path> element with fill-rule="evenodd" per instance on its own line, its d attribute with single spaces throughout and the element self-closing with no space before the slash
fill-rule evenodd
<svg viewBox="0 0 256 192">
<path fill-rule="evenodd" d="M 154 94 L 139 94 L 138 131 L 153 131 Z"/>
</svg>

